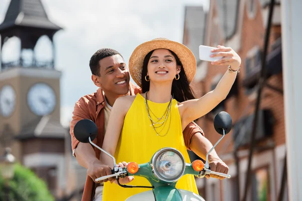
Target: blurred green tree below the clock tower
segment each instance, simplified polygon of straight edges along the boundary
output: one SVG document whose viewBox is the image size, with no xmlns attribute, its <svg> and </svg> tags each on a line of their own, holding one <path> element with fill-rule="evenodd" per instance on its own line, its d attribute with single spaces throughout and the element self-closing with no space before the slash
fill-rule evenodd
<svg viewBox="0 0 302 201">
<path fill-rule="evenodd" d="M 0 176 L 0 201 L 7 200 L 7 187 Z M 46 183 L 37 177 L 30 169 L 15 164 L 14 178 L 9 181 L 10 201 L 54 201 L 54 197 L 47 189 Z"/>
</svg>

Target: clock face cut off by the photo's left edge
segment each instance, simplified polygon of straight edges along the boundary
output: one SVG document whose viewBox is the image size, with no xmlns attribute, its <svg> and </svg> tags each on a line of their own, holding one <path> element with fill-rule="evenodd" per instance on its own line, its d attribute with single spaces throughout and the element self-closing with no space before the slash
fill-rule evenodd
<svg viewBox="0 0 302 201">
<path fill-rule="evenodd" d="M 11 85 L 4 85 L 0 89 L 0 113 L 9 117 L 16 107 L 16 92 Z"/>
</svg>

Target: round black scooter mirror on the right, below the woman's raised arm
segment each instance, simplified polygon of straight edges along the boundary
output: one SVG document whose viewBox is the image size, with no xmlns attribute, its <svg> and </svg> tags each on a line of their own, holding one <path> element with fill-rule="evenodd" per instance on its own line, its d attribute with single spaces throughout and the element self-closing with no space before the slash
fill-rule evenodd
<svg viewBox="0 0 302 201">
<path fill-rule="evenodd" d="M 220 135 L 223 135 L 223 130 L 225 131 L 225 134 L 228 134 L 232 129 L 232 125 L 231 116 L 224 111 L 218 113 L 214 118 L 214 128 Z"/>
</svg>

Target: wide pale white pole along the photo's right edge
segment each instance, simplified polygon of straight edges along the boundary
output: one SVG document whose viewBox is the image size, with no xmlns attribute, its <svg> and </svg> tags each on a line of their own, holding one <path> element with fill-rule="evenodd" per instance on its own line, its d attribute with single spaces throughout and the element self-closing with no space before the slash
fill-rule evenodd
<svg viewBox="0 0 302 201">
<path fill-rule="evenodd" d="M 288 199 L 302 200 L 302 1 L 281 1 L 282 76 Z"/>
</svg>

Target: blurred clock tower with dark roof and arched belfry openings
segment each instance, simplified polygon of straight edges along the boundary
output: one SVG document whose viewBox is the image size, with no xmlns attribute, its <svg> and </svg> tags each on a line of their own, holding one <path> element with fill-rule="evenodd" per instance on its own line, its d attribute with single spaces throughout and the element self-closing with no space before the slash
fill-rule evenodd
<svg viewBox="0 0 302 201">
<path fill-rule="evenodd" d="M 55 69 L 53 44 L 60 29 L 48 19 L 40 0 L 11 0 L 0 24 L 0 153 L 10 146 L 18 161 L 44 179 L 56 197 L 64 187 L 60 179 L 66 135 L 60 124 L 61 72 Z M 42 36 L 49 41 L 51 59 L 36 56 Z M 20 42 L 20 52 L 11 52 L 6 44 L 11 39 Z M 4 51 L 20 56 L 5 61 Z"/>
</svg>

